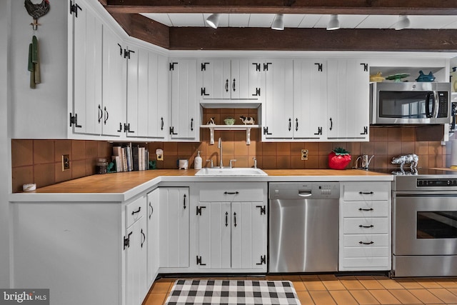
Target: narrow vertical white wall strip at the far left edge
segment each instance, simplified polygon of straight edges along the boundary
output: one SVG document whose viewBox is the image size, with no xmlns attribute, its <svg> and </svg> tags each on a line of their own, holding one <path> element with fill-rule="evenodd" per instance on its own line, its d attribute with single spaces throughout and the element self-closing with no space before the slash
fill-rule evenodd
<svg viewBox="0 0 457 305">
<path fill-rule="evenodd" d="M 9 288 L 9 203 L 11 138 L 8 136 L 8 39 L 11 0 L 0 1 L 0 287 Z"/>
</svg>

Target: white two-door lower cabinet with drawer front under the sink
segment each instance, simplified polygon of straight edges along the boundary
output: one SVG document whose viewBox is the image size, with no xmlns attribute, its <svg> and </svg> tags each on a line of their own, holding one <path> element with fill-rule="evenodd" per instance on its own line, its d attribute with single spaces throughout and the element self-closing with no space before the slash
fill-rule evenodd
<svg viewBox="0 0 457 305">
<path fill-rule="evenodd" d="M 198 269 L 266 271 L 266 184 L 204 184 L 193 209 Z"/>
</svg>

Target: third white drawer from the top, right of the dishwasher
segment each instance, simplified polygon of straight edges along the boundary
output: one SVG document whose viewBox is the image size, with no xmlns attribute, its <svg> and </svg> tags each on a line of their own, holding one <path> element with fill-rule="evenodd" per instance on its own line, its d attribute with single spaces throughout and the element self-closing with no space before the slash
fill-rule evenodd
<svg viewBox="0 0 457 305">
<path fill-rule="evenodd" d="M 343 234 L 388 234 L 389 226 L 387 217 L 345 218 Z"/>
</svg>

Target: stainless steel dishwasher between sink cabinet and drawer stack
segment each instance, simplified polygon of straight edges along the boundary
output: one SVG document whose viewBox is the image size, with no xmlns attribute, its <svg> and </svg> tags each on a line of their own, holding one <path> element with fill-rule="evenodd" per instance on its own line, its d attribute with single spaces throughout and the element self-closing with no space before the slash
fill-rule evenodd
<svg viewBox="0 0 457 305">
<path fill-rule="evenodd" d="M 268 272 L 338 271 L 338 182 L 269 184 Z"/>
</svg>

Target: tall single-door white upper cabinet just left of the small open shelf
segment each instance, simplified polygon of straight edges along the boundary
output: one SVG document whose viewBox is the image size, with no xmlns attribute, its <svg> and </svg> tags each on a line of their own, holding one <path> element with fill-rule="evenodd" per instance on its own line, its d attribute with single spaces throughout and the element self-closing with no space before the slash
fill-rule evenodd
<svg viewBox="0 0 457 305">
<path fill-rule="evenodd" d="M 200 116 L 197 103 L 196 59 L 174 59 L 169 63 L 171 79 L 171 139 L 199 141 Z"/>
</svg>

